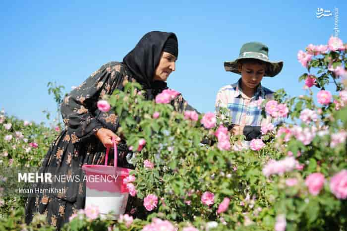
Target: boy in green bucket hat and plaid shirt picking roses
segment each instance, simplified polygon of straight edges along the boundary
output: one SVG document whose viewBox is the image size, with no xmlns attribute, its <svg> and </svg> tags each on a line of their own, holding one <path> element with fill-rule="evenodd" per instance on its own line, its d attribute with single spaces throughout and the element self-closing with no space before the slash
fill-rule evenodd
<svg viewBox="0 0 347 231">
<path fill-rule="evenodd" d="M 283 61 L 270 61 L 269 48 L 258 42 L 243 44 L 238 58 L 225 62 L 226 71 L 240 74 L 234 84 L 222 87 L 217 93 L 216 111 L 227 108 L 231 117 L 232 134 L 245 135 L 252 140 L 261 135 L 261 125 L 270 122 L 258 109 L 259 98 L 273 99 L 273 92 L 261 85 L 264 76 L 274 77 L 283 67 Z"/>
</svg>

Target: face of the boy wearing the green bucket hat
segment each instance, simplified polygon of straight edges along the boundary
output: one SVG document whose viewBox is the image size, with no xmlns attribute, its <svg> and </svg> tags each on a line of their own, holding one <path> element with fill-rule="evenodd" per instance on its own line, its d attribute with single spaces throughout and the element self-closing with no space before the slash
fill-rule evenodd
<svg viewBox="0 0 347 231">
<path fill-rule="evenodd" d="M 239 65 L 239 68 L 241 68 L 242 85 L 255 89 L 264 77 L 266 64 L 243 63 Z"/>
</svg>

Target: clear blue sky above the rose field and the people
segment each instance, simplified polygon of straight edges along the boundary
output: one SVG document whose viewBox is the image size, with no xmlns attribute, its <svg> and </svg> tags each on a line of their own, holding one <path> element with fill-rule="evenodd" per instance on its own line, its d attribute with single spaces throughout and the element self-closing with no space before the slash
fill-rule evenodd
<svg viewBox="0 0 347 231">
<path fill-rule="evenodd" d="M 317 8 L 332 16 L 316 17 Z M 298 76 L 305 69 L 298 50 L 326 44 L 334 34 L 339 8 L 339 37 L 347 42 L 347 3 L 332 1 L 14 1 L 0 3 L 0 108 L 9 115 L 45 121 L 55 112 L 47 83 L 70 91 L 102 64 L 120 61 L 152 30 L 178 37 L 179 57 L 168 85 L 200 112 L 214 111 L 217 91 L 238 75 L 223 62 L 238 56 L 243 43 L 269 46 L 272 60 L 284 60 L 282 72 L 265 77 L 272 90 L 304 94 Z"/>
</svg>

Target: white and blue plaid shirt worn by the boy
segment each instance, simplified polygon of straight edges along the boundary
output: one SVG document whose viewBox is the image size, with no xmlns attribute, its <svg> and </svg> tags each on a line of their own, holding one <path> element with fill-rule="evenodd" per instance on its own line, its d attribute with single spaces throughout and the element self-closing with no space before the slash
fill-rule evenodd
<svg viewBox="0 0 347 231">
<path fill-rule="evenodd" d="M 261 97 L 262 99 L 274 99 L 274 92 L 262 87 L 259 84 L 254 95 L 249 98 L 240 88 L 241 79 L 236 83 L 222 87 L 216 98 L 216 112 L 219 108 L 228 108 L 231 122 L 245 126 L 261 126 L 271 122 L 270 116 L 263 118 L 261 110 L 258 109 L 256 101 Z"/>
</svg>

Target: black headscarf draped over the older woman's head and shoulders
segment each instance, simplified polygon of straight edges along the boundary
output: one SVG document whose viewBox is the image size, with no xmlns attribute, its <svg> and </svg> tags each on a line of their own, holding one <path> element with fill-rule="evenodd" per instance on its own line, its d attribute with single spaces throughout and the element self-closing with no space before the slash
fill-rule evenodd
<svg viewBox="0 0 347 231">
<path fill-rule="evenodd" d="M 159 64 L 163 47 L 167 40 L 177 37 L 174 33 L 151 31 L 145 34 L 124 58 L 123 63 L 133 74 L 134 79 L 147 91 L 152 98 L 167 89 L 164 81 L 154 81 L 154 72 Z M 150 95 L 153 95 L 152 97 Z"/>
</svg>

